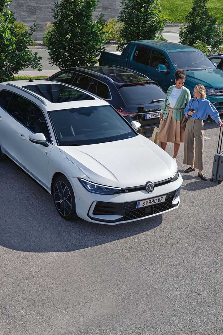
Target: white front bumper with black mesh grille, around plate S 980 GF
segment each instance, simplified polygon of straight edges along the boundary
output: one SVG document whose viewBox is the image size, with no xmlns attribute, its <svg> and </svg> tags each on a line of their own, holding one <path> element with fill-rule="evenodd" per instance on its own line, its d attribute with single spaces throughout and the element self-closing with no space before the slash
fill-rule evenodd
<svg viewBox="0 0 223 335">
<path fill-rule="evenodd" d="M 118 224 L 162 214 L 177 208 L 180 203 L 182 177 L 172 183 L 155 187 L 152 193 L 145 190 L 115 195 L 99 195 L 88 192 L 77 178 L 71 178 L 76 201 L 77 215 L 94 223 Z M 178 193 L 176 193 L 178 190 Z M 139 200 L 166 195 L 165 202 L 136 208 Z"/>
</svg>

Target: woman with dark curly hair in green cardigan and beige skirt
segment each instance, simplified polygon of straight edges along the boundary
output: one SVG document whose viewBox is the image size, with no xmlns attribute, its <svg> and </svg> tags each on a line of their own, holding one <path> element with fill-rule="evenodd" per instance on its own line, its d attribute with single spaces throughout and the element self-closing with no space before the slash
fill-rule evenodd
<svg viewBox="0 0 223 335">
<path fill-rule="evenodd" d="M 183 70 L 175 72 L 175 85 L 168 88 L 159 117 L 161 127 L 157 140 L 161 142 L 163 150 L 166 149 L 167 142 L 174 143 L 174 159 L 177 158 L 181 142 L 184 142 L 184 109 L 191 99 L 189 89 L 184 87 L 185 79 L 186 73 Z"/>
</svg>

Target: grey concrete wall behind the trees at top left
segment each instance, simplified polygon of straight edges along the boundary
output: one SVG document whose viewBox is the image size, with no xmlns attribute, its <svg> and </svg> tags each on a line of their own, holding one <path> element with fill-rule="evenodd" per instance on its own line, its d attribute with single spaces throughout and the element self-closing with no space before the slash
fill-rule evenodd
<svg viewBox="0 0 223 335">
<path fill-rule="evenodd" d="M 51 8 L 54 7 L 55 0 L 14 0 L 10 5 L 10 10 L 15 12 L 17 21 L 23 22 L 27 27 L 36 23 L 37 30 L 32 38 L 35 41 L 42 41 L 44 26 L 47 21 L 52 21 Z M 104 13 L 104 18 L 117 18 L 120 12 L 120 0 L 100 0 L 93 18 L 98 13 Z"/>
</svg>

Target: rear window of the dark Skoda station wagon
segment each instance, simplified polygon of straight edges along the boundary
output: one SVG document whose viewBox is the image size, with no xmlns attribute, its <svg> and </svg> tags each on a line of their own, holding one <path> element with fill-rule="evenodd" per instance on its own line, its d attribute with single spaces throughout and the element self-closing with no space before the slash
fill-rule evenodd
<svg viewBox="0 0 223 335">
<path fill-rule="evenodd" d="M 165 93 L 155 84 L 123 85 L 119 92 L 127 106 L 151 104 L 153 100 L 164 100 Z"/>
</svg>

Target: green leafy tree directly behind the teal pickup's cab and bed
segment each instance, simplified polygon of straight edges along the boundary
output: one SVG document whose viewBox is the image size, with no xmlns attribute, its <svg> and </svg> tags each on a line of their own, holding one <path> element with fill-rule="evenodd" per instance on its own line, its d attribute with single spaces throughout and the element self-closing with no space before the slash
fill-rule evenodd
<svg viewBox="0 0 223 335">
<path fill-rule="evenodd" d="M 161 35 L 166 18 L 161 14 L 158 0 L 122 0 L 118 20 L 123 23 L 122 41 L 117 50 L 123 50 L 130 41 L 155 40 Z"/>
</svg>

